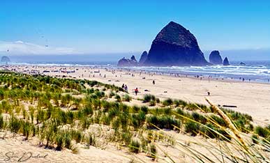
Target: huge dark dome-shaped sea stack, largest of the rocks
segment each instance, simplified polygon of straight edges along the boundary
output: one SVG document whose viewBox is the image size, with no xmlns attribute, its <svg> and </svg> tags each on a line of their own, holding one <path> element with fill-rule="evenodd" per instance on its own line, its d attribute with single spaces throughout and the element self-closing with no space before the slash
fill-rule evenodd
<svg viewBox="0 0 270 163">
<path fill-rule="evenodd" d="M 153 40 L 144 65 L 209 65 L 195 36 L 180 24 L 170 22 Z"/>
</svg>

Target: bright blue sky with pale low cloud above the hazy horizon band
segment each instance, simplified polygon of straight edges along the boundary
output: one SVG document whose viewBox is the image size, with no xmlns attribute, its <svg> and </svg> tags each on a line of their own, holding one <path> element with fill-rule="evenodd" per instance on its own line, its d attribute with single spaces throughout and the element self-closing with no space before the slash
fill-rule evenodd
<svg viewBox="0 0 270 163">
<path fill-rule="evenodd" d="M 170 21 L 189 29 L 203 51 L 270 49 L 269 8 L 270 1 L 248 0 L 1 0 L 0 52 L 148 51 Z"/>
</svg>

